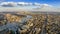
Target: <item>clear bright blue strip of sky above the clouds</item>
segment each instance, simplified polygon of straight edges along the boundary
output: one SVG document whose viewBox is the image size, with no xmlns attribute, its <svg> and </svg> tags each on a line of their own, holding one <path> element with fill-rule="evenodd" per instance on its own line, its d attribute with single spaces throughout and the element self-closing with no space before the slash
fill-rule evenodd
<svg viewBox="0 0 60 34">
<path fill-rule="evenodd" d="M 49 5 L 53 5 L 54 7 L 60 7 L 60 0 L 4 0 L 6 2 L 37 2 L 37 3 L 41 3 L 41 4 L 49 4 Z"/>
</svg>

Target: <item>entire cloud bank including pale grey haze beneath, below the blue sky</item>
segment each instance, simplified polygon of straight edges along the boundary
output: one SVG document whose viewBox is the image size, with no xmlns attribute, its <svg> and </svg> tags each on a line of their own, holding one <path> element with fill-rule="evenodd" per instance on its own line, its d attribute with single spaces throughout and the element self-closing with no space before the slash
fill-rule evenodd
<svg viewBox="0 0 60 34">
<path fill-rule="evenodd" d="M 22 7 L 24 7 L 24 6 L 26 6 L 26 7 L 27 6 L 29 6 L 29 7 L 30 6 L 35 6 L 34 8 L 30 7 L 31 10 L 60 11 L 60 9 L 54 8 L 52 5 L 49 5 L 49 4 L 40 4 L 40 3 L 37 3 L 37 2 L 35 2 L 35 3 L 28 3 L 28 2 L 2 2 L 2 3 L 0 3 L 0 10 L 3 10 L 3 9 L 5 9 L 5 10 L 20 10 L 20 9 L 22 9 L 21 6 Z M 7 8 L 7 7 L 10 7 L 10 8 Z M 17 7 L 19 7 L 19 8 L 17 8 Z M 30 10 L 30 9 L 28 9 L 28 10 Z"/>
</svg>

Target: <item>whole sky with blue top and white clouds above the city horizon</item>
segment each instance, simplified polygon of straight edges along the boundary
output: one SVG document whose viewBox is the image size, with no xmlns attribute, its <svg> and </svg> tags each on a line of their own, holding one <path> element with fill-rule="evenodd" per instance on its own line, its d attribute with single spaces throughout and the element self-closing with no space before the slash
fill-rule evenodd
<svg viewBox="0 0 60 34">
<path fill-rule="evenodd" d="M 3 8 L 2 8 L 3 7 Z M 0 0 L 0 10 L 28 8 L 43 11 L 60 11 L 60 0 Z M 57 9 L 58 8 L 58 9 Z"/>
</svg>

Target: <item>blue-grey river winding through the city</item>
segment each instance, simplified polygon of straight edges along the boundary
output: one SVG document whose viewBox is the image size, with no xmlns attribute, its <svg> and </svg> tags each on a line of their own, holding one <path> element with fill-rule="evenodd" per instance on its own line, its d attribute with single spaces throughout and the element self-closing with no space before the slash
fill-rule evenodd
<svg viewBox="0 0 60 34">
<path fill-rule="evenodd" d="M 31 19 L 31 18 L 32 18 L 32 16 L 27 15 L 26 17 L 23 17 L 21 19 L 20 23 L 16 23 L 16 22 L 9 23 L 8 22 L 6 25 L 3 25 L 3 26 L 0 27 L 0 31 L 2 31 L 2 34 L 4 33 L 4 30 L 13 30 L 16 33 L 17 29 L 20 29 L 18 26 L 23 27 L 23 24 L 26 23 L 26 21 Z"/>
</svg>

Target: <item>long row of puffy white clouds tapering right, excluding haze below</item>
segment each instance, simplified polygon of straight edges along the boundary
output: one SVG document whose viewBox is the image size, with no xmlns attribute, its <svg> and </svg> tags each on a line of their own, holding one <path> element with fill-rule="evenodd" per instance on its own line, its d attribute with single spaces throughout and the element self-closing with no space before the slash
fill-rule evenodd
<svg viewBox="0 0 60 34">
<path fill-rule="evenodd" d="M 2 7 L 16 7 L 16 6 L 50 6 L 48 4 L 40 3 L 28 3 L 28 2 L 2 2 L 0 3 Z"/>
</svg>

